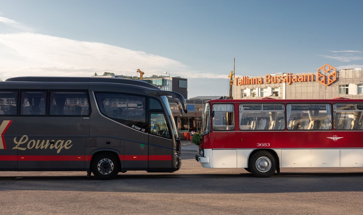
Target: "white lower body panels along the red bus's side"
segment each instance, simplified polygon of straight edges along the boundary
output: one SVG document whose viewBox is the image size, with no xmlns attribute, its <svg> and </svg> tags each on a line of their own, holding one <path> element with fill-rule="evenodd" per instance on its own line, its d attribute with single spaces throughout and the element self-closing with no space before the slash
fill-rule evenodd
<svg viewBox="0 0 363 215">
<path fill-rule="evenodd" d="M 255 149 L 204 149 L 206 168 L 247 168 Z M 273 149 L 280 167 L 363 167 L 363 149 Z"/>
</svg>

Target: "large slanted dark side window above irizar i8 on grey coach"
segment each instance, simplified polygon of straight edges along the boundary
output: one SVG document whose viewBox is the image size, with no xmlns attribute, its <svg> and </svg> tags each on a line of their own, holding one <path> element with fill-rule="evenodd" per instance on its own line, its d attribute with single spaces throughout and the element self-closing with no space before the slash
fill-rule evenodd
<svg viewBox="0 0 363 215">
<path fill-rule="evenodd" d="M 145 97 L 121 93 L 95 93 L 98 109 L 109 118 L 130 127 L 148 132 Z"/>
</svg>

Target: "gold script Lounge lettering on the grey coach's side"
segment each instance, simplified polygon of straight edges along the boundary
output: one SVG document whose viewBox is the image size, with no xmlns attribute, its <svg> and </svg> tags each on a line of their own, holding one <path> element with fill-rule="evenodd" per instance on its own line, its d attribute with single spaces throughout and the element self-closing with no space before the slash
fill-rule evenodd
<svg viewBox="0 0 363 215">
<path fill-rule="evenodd" d="M 34 140 L 31 139 L 28 142 L 28 136 L 23 135 L 23 137 L 21 137 L 19 139 L 19 141 L 16 141 L 16 138 L 14 138 L 14 143 L 16 144 L 15 147 L 13 147 L 13 149 L 19 149 L 19 150 L 26 150 L 26 149 L 57 149 L 57 154 L 60 153 L 60 151 L 62 149 L 70 149 L 70 147 L 73 146 L 72 141 L 71 140 Z M 52 142 L 52 143 L 51 143 Z M 25 144 L 24 147 L 20 147 L 20 145 Z"/>
</svg>

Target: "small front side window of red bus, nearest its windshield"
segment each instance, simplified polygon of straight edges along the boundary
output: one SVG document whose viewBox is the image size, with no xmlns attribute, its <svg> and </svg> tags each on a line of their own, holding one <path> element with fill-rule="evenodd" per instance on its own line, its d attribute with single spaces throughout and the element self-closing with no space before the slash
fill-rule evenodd
<svg viewBox="0 0 363 215">
<path fill-rule="evenodd" d="M 234 105 L 213 104 L 213 130 L 234 130 Z"/>
</svg>

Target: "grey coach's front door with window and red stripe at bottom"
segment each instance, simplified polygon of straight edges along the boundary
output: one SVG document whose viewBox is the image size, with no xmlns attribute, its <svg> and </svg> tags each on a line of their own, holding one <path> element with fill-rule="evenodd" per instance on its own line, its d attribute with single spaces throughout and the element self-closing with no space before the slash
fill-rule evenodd
<svg viewBox="0 0 363 215">
<path fill-rule="evenodd" d="M 171 171 L 172 135 L 166 115 L 150 112 L 148 171 Z"/>
</svg>

